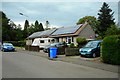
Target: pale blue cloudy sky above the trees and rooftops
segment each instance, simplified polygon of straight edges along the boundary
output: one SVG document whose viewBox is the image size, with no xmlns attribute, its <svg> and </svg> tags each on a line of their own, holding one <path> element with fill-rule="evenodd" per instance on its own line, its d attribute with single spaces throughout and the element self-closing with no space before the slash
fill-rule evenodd
<svg viewBox="0 0 120 80">
<path fill-rule="evenodd" d="M 114 12 L 115 22 L 118 22 L 118 2 L 106 2 Z M 38 20 L 43 23 L 49 21 L 51 27 L 74 26 L 77 21 L 84 16 L 98 17 L 103 1 L 6 1 L 1 3 L 2 10 L 9 19 L 16 24 L 21 24 L 22 28 L 27 19 L 30 24 Z M 23 13 L 20 15 L 19 13 Z"/>
</svg>

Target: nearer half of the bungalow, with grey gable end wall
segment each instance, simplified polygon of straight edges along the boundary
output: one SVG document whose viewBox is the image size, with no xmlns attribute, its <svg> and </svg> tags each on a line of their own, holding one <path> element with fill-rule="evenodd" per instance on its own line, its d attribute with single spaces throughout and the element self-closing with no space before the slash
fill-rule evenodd
<svg viewBox="0 0 120 80">
<path fill-rule="evenodd" d="M 58 42 L 74 43 L 77 45 L 76 38 L 84 37 L 86 39 L 95 39 L 95 32 L 91 26 L 85 22 L 84 24 L 76 25 L 73 27 L 58 28 L 51 36 Z"/>
</svg>

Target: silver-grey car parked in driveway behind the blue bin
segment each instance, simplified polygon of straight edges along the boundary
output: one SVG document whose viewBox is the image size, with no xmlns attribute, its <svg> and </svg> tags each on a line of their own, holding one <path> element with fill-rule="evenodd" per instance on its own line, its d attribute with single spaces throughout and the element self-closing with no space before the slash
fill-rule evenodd
<svg viewBox="0 0 120 80">
<path fill-rule="evenodd" d="M 51 47 L 57 47 L 57 48 L 58 48 L 58 47 L 67 47 L 67 44 L 64 43 L 64 42 L 52 43 L 52 44 L 50 44 L 50 45 L 45 46 L 44 49 L 43 49 L 43 51 L 46 52 L 46 53 L 48 53 L 48 52 L 49 52 L 49 49 L 50 49 Z"/>
</svg>

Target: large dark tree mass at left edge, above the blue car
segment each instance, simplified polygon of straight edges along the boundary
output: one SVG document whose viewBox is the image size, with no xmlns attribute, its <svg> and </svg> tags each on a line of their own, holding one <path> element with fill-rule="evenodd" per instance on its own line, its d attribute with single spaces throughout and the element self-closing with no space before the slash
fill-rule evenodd
<svg viewBox="0 0 120 80">
<path fill-rule="evenodd" d="M 21 26 L 17 26 L 13 21 L 7 18 L 5 13 L 2 14 L 2 41 L 18 41 L 22 40 Z"/>
</svg>

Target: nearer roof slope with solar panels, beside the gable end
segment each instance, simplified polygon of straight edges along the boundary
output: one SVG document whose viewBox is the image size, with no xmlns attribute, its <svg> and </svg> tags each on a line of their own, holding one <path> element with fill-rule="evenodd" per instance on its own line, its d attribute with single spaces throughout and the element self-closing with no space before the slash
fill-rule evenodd
<svg viewBox="0 0 120 80">
<path fill-rule="evenodd" d="M 83 24 L 76 25 L 73 27 L 63 27 L 58 28 L 52 35 L 62 35 L 62 34 L 73 34 L 75 33 Z"/>
</svg>

